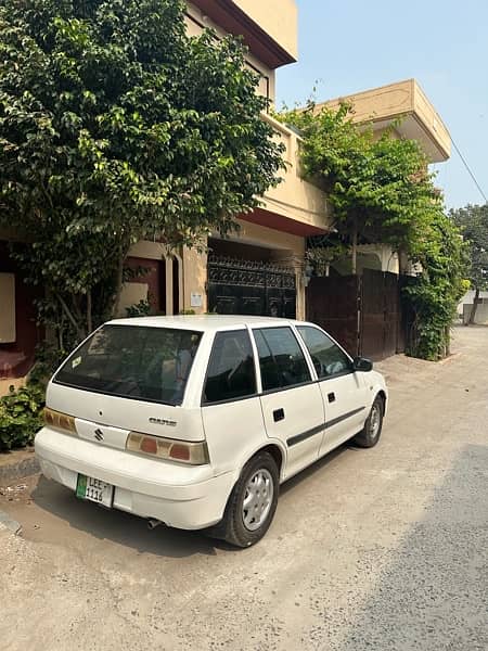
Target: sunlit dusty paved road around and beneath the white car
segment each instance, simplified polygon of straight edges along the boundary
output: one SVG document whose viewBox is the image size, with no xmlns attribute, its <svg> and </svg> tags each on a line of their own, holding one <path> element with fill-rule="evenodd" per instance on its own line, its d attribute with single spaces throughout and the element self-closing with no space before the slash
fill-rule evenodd
<svg viewBox="0 0 488 651">
<path fill-rule="evenodd" d="M 380 365 L 381 444 L 283 487 L 234 551 L 79 502 L 42 477 L 0 498 L 0 647 L 37 650 L 488 649 L 488 329 L 454 355 Z"/>
</svg>

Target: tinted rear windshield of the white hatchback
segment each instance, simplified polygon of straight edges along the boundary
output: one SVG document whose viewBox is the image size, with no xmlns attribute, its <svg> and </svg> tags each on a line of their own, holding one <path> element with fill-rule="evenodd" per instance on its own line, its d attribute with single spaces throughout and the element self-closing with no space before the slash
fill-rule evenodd
<svg viewBox="0 0 488 651">
<path fill-rule="evenodd" d="M 201 339 L 193 330 L 103 326 L 68 357 L 54 382 L 180 405 Z"/>
</svg>

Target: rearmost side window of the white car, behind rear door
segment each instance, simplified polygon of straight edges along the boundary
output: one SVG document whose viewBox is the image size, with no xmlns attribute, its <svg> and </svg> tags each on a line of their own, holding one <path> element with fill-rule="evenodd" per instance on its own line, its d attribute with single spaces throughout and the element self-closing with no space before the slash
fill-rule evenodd
<svg viewBox="0 0 488 651">
<path fill-rule="evenodd" d="M 222 403 L 255 394 L 256 371 L 247 330 L 218 332 L 208 362 L 203 403 Z"/>
</svg>

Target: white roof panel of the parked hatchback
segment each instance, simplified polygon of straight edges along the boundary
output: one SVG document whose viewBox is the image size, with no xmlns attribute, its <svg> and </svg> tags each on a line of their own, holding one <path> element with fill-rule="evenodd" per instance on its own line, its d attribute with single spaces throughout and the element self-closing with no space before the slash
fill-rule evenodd
<svg viewBox="0 0 488 651">
<path fill-rule="evenodd" d="M 290 323 L 303 323 L 294 319 L 281 319 L 277 317 L 252 317 L 247 315 L 180 315 L 175 317 L 134 317 L 126 319 L 114 319 L 108 321 L 111 326 L 145 326 L 149 328 L 181 328 L 182 330 L 198 330 L 213 332 L 226 328 L 235 329 L 245 326 L 286 326 Z"/>
</svg>

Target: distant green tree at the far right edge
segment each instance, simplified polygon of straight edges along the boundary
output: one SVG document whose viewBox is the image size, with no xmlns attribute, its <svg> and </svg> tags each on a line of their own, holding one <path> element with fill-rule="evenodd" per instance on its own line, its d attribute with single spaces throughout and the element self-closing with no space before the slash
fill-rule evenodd
<svg viewBox="0 0 488 651">
<path fill-rule="evenodd" d="M 466 326 L 474 323 L 479 293 L 488 290 L 488 204 L 467 204 L 450 210 L 450 217 L 459 226 L 468 247 L 468 277 L 474 289 L 473 307 Z"/>
</svg>

